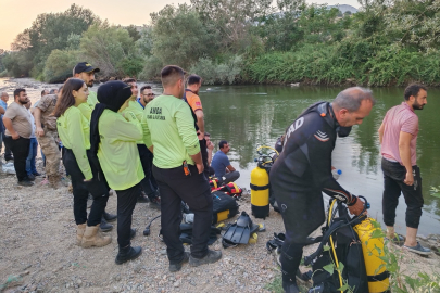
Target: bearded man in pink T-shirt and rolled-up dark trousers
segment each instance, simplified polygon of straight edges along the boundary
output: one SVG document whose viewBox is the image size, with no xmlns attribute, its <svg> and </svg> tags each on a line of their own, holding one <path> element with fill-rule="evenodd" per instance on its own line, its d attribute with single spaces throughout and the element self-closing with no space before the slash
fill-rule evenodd
<svg viewBox="0 0 440 293">
<path fill-rule="evenodd" d="M 403 247 L 426 255 L 430 250 L 416 240 L 424 198 L 420 169 L 416 165 L 418 117 L 414 111 L 424 109 L 427 89 L 420 85 L 410 85 L 405 89 L 404 99 L 402 104 L 387 112 L 378 130 L 384 171 L 384 221 L 387 237 L 394 242 L 403 242 L 394 232 L 395 208 L 399 196 L 403 193 L 406 202 L 406 240 Z"/>
</svg>

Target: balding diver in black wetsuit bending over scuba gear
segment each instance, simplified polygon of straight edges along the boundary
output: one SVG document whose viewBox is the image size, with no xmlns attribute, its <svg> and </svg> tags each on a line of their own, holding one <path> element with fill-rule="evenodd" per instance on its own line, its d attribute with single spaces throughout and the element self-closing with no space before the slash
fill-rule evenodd
<svg viewBox="0 0 440 293">
<path fill-rule="evenodd" d="M 282 153 L 271 169 L 269 180 L 286 228 L 281 253 L 286 292 L 299 292 L 296 272 L 302 249 L 309 234 L 325 220 L 322 192 L 345 203 L 354 215 L 363 209 L 363 202 L 334 179 L 331 152 L 337 135 L 347 137 L 374 104 L 370 90 L 349 88 L 332 103 L 310 106 L 286 130 Z"/>
</svg>

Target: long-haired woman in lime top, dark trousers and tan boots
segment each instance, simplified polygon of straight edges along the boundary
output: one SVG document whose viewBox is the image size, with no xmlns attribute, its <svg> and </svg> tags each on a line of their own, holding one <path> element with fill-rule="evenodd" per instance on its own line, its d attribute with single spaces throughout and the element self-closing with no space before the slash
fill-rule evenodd
<svg viewBox="0 0 440 293">
<path fill-rule="evenodd" d="M 65 148 L 63 164 L 71 175 L 74 195 L 74 216 L 77 225 L 76 244 L 83 247 L 104 246 L 112 238 L 99 229 L 101 216 L 109 200 L 109 186 L 104 176 L 90 163 L 90 127 L 88 119 L 78 110 L 87 101 L 88 88 L 81 79 L 71 78 L 63 87 L 53 115 L 56 129 Z M 93 203 L 87 218 L 87 198 Z M 86 225 L 87 222 L 87 225 Z"/>
</svg>

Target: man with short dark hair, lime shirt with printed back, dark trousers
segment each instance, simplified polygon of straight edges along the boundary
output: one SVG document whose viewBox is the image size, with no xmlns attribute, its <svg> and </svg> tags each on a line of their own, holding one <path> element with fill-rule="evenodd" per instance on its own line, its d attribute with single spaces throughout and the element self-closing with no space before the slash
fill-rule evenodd
<svg viewBox="0 0 440 293">
<path fill-rule="evenodd" d="M 154 154 L 153 175 L 161 193 L 161 226 L 169 271 L 215 263 L 221 252 L 208 249 L 213 200 L 203 174 L 200 144 L 190 107 L 180 100 L 185 90 L 185 72 L 174 65 L 161 72 L 163 94 L 146 105 L 143 141 Z M 179 239 L 181 202 L 194 213 L 191 253 L 185 252 Z"/>
</svg>

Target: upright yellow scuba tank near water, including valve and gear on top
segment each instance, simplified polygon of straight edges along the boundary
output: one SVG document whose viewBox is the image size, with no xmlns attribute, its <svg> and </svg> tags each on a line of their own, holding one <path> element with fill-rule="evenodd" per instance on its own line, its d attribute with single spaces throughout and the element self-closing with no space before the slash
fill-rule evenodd
<svg viewBox="0 0 440 293">
<path fill-rule="evenodd" d="M 266 148 L 274 152 L 265 155 L 260 150 Z M 260 146 L 256 150 L 260 155 L 255 158 L 256 167 L 251 171 L 251 209 L 255 218 L 266 218 L 269 215 L 269 177 L 268 173 L 274 164 L 274 155 L 278 154 L 276 150 L 269 146 Z M 272 156 L 271 156 L 272 154 Z"/>
</svg>

